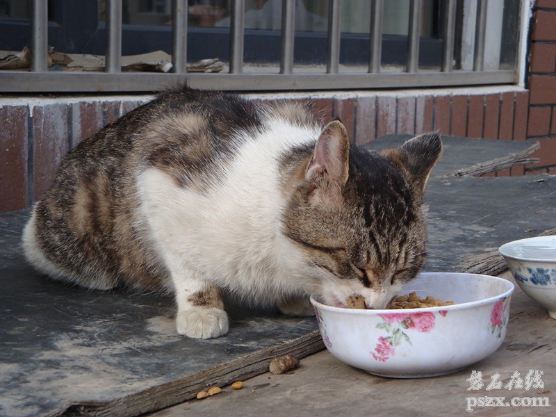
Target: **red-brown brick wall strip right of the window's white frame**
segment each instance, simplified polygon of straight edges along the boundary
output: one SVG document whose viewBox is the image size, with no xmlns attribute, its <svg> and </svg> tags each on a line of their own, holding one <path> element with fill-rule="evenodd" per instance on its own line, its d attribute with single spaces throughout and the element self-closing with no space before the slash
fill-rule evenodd
<svg viewBox="0 0 556 417">
<path fill-rule="evenodd" d="M 541 162 L 526 172 L 556 174 L 556 0 L 534 3 L 528 87 L 527 138 L 540 143 L 532 156 Z"/>
</svg>

